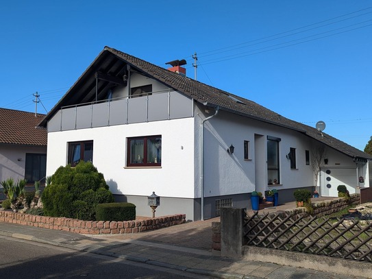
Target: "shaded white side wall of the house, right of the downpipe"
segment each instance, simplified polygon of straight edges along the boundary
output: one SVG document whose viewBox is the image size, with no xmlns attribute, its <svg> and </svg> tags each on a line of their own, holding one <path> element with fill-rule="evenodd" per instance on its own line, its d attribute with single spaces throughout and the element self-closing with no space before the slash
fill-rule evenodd
<svg viewBox="0 0 372 279">
<path fill-rule="evenodd" d="M 281 138 L 280 185 L 267 183 L 267 136 Z M 249 141 L 249 160 L 244 160 L 244 141 Z M 314 185 L 312 167 L 305 160 L 305 150 L 311 153 L 313 142 L 299 132 L 220 111 L 205 123 L 204 143 L 206 197 Z M 227 153 L 230 145 L 235 147 L 233 155 Z M 286 158 L 290 147 L 296 149 L 296 169 L 290 169 Z"/>
</svg>

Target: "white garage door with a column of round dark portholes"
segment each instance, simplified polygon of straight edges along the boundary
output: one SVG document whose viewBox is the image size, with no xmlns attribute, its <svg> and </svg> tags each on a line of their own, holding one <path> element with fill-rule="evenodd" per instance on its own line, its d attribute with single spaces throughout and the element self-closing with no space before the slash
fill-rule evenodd
<svg viewBox="0 0 372 279">
<path fill-rule="evenodd" d="M 356 168 L 324 168 L 321 170 L 321 195 L 323 197 L 337 197 L 338 185 L 345 185 L 349 193 L 356 193 Z"/>
</svg>

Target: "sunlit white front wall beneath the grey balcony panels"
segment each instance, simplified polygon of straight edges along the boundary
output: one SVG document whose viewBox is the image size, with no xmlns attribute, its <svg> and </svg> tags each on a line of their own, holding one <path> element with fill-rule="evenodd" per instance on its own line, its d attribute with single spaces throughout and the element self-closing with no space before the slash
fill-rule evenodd
<svg viewBox="0 0 372 279">
<path fill-rule="evenodd" d="M 194 197 L 193 118 L 49 132 L 47 175 L 66 165 L 72 141 L 93 141 L 93 165 L 103 173 L 114 194 Z M 162 167 L 125 168 L 126 138 L 162 136 Z"/>
</svg>

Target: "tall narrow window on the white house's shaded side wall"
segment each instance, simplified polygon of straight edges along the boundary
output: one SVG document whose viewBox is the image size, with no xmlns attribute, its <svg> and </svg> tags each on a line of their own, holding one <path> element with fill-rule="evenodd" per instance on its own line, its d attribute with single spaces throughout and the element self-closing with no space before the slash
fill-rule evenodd
<svg viewBox="0 0 372 279">
<path fill-rule="evenodd" d="M 280 184 L 279 143 L 281 139 L 267 136 L 267 177 L 269 184 Z"/>
</svg>

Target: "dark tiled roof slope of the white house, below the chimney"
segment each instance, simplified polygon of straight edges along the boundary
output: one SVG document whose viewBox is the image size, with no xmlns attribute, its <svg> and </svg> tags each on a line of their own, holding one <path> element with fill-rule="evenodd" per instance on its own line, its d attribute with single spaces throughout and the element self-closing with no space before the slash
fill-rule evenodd
<svg viewBox="0 0 372 279">
<path fill-rule="evenodd" d="M 352 147 L 351 145 L 348 145 L 347 143 L 344 143 L 343 141 L 340 141 L 324 132 L 322 136 L 322 134 L 316 128 L 312 128 L 308 125 L 282 117 L 280 114 L 264 108 L 254 101 L 250 101 L 237 95 L 227 93 L 226 91 L 218 88 L 182 77 L 182 75 L 172 73 L 171 71 L 168 71 L 160 66 L 145 62 L 144 60 L 140 60 L 134 56 L 129 56 L 127 53 L 123 53 L 116 49 L 111 49 L 109 47 L 106 47 L 105 49 L 114 53 L 116 56 L 123 58 L 123 60 L 129 62 L 129 64 L 136 66 L 136 68 L 155 77 L 160 82 L 163 82 L 164 84 L 167 84 L 168 86 L 179 90 L 190 97 L 193 97 L 193 99 L 196 99 L 201 103 L 208 102 L 208 105 L 219 106 L 222 110 L 228 110 L 236 114 L 251 117 L 253 119 L 273 123 L 275 125 L 290 128 L 292 130 L 297 130 L 321 143 L 325 143 L 325 145 L 347 154 L 348 156 L 368 158 L 372 160 L 372 156 L 369 154 L 366 154 L 363 151 L 360 151 L 359 149 L 356 149 L 355 147 Z M 233 98 L 229 96 L 232 96 Z M 243 104 L 240 104 L 240 102 L 237 102 L 234 100 L 234 98 L 238 101 L 241 101 Z"/>
</svg>

